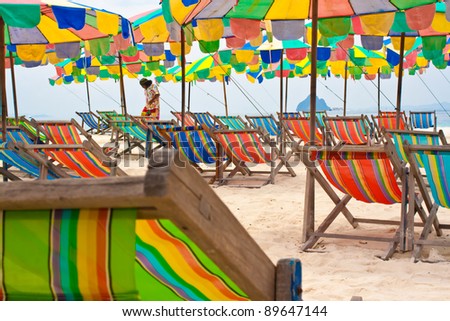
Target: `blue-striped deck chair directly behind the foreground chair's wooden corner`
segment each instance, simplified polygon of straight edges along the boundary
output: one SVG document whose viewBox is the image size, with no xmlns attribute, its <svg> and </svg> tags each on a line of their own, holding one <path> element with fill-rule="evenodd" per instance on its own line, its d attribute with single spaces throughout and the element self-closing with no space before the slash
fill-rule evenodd
<svg viewBox="0 0 450 321">
<path fill-rule="evenodd" d="M 205 128 L 208 127 L 205 126 Z M 172 147 L 203 174 L 204 178 L 209 179 L 210 184 L 217 181 L 219 168 L 222 166 L 226 168 L 230 164 L 218 155 L 214 140 L 203 127 L 160 128 L 158 131 Z M 204 166 L 200 166 L 201 164 Z"/>
</svg>

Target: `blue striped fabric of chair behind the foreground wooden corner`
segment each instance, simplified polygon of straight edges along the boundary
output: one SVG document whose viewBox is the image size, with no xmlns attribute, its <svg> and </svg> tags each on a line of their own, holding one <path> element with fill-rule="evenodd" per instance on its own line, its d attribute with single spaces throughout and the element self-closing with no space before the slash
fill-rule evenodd
<svg viewBox="0 0 450 321">
<path fill-rule="evenodd" d="M 203 129 L 173 128 L 167 131 L 173 146 L 187 159 L 196 164 L 216 162 L 217 149 L 211 136 Z"/>
</svg>

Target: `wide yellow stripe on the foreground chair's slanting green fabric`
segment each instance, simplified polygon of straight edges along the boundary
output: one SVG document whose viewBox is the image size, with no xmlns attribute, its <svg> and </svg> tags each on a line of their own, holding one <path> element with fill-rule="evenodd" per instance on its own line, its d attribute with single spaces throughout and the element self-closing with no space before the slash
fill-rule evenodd
<svg viewBox="0 0 450 321">
<path fill-rule="evenodd" d="M 158 235 L 152 233 L 149 228 L 145 228 L 147 224 L 136 224 L 136 233 L 142 239 L 143 242 L 151 244 L 161 255 L 164 256 L 170 267 L 184 280 L 188 280 L 193 284 L 200 292 L 205 294 L 211 300 L 224 300 L 224 295 L 215 287 L 211 286 L 209 280 L 206 280 L 199 276 L 190 266 L 186 263 L 184 257 L 180 254 L 178 248 L 170 241 L 164 240 Z M 201 265 L 199 268 L 203 269 L 206 273 L 209 273 Z"/>
</svg>

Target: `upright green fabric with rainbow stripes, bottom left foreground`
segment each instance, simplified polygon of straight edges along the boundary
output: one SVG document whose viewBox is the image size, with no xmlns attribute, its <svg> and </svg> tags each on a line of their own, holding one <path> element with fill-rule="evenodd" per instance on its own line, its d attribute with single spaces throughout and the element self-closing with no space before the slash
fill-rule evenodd
<svg viewBox="0 0 450 321">
<path fill-rule="evenodd" d="M 0 212 L 0 300 L 137 300 L 136 210 Z"/>
</svg>

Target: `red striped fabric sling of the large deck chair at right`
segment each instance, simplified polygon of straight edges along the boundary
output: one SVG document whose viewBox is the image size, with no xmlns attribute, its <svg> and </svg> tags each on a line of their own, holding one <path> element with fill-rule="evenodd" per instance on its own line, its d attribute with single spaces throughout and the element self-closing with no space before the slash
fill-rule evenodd
<svg viewBox="0 0 450 321">
<path fill-rule="evenodd" d="M 392 164 L 385 153 L 317 153 L 328 181 L 341 192 L 366 203 L 401 202 Z"/>
</svg>

